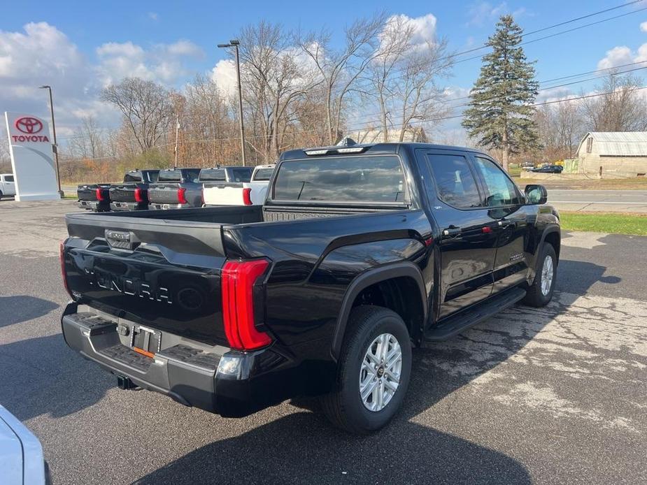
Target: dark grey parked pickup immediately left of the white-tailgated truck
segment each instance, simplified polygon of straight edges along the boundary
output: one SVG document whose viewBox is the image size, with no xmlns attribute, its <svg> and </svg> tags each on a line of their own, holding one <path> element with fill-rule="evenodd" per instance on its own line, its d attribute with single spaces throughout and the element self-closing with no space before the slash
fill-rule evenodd
<svg viewBox="0 0 647 485">
<path fill-rule="evenodd" d="M 148 187 L 150 209 L 182 209 L 202 206 L 199 168 L 169 168 L 159 172 L 157 182 Z"/>
</svg>

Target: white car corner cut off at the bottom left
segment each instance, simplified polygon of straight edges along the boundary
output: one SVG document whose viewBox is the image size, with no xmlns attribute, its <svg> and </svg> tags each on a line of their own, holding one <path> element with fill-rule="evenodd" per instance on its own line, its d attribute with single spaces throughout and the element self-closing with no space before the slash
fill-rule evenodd
<svg viewBox="0 0 647 485">
<path fill-rule="evenodd" d="M 0 483 L 45 485 L 45 475 L 41 442 L 0 405 Z"/>
</svg>

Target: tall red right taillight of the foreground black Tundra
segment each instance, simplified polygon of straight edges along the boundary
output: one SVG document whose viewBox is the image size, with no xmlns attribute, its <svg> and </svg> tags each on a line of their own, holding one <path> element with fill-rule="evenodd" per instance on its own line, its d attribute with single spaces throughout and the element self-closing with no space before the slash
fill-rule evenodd
<svg viewBox="0 0 647 485">
<path fill-rule="evenodd" d="M 258 349 L 272 342 L 269 335 L 257 331 L 254 319 L 254 284 L 267 266 L 265 259 L 255 259 L 227 261 L 222 267 L 222 321 L 233 349 Z"/>
</svg>

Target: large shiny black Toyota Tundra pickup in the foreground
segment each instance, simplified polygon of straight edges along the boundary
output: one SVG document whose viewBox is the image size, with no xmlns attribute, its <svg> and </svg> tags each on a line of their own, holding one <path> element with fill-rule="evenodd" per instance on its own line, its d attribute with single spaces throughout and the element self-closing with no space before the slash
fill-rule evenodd
<svg viewBox="0 0 647 485">
<path fill-rule="evenodd" d="M 262 206 L 67 215 L 67 345 L 122 389 L 225 417 L 320 396 L 370 433 L 412 347 L 553 296 L 559 215 L 482 152 L 293 150 L 269 187 Z"/>
</svg>

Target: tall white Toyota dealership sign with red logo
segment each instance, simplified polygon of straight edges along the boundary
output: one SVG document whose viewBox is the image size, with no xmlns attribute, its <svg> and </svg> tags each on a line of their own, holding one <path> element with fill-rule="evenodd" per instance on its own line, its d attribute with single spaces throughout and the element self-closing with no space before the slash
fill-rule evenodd
<svg viewBox="0 0 647 485">
<path fill-rule="evenodd" d="M 17 201 L 59 199 L 48 123 L 34 115 L 5 112 Z"/>
</svg>

